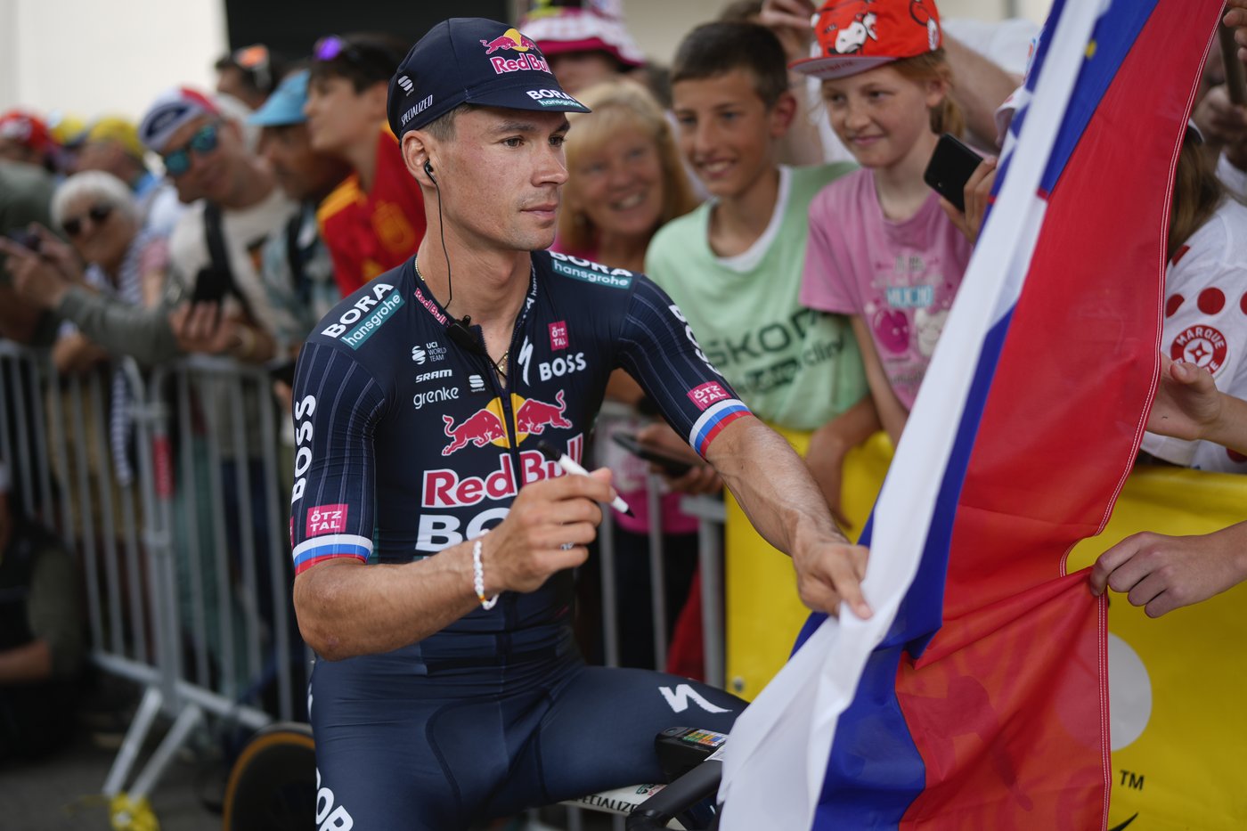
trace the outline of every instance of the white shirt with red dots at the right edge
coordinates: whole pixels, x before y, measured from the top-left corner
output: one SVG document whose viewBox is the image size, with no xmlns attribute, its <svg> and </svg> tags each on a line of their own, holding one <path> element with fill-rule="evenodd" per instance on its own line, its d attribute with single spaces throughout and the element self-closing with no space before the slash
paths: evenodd
<svg viewBox="0 0 1247 831">
<path fill-rule="evenodd" d="M 1217 389 L 1247 398 L 1245 349 L 1247 207 L 1227 198 L 1170 261 L 1161 352 L 1206 368 Z M 1247 473 L 1247 457 L 1211 442 L 1147 433 L 1142 449 L 1191 468 Z"/>
</svg>

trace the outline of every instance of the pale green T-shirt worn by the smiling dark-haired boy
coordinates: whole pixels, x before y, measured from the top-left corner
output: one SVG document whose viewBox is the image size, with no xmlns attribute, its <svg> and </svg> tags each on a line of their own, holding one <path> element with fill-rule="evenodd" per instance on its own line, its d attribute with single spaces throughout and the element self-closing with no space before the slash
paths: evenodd
<svg viewBox="0 0 1247 831">
<path fill-rule="evenodd" d="M 809 202 L 853 170 L 843 162 L 781 167 L 771 222 L 737 257 L 710 248 L 713 202 L 663 226 L 646 256 L 646 273 L 680 306 L 706 357 L 777 427 L 814 429 L 868 392 L 848 318 L 798 299 Z"/>
</svg>

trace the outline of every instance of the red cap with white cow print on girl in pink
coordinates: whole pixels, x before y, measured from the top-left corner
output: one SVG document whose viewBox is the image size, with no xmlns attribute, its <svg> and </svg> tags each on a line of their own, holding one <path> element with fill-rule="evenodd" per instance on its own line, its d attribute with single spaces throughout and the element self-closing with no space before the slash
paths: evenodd
<svg viewBox="0 0 1247 831">
<path fill-rule="evenodd" d="M 827 0 L 812 25 L 818 55 L 788 67 L 823 79 L 933 52 L 943 42 L 935 0 Z"/>
</svg>

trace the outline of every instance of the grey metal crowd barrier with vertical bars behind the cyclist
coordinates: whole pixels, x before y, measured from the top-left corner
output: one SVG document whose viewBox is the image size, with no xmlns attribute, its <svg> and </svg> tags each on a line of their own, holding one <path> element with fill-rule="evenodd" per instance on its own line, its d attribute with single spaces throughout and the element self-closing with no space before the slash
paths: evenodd
<svg viewBox="0 0 1247 831">
<path fill-rule="evenodd" d="M 205 735 L 208 716 L 248 730 L 307 717 L 311 654 L 289 599 L 293 440 L 283 440 L 268 373 L 228 359 L 187 358 L 147 373 L 123 359 L 67 376 L 46 351 L 0 339 L 0 458 L 10 463 L 12 489 L 81 566 L 90 660 L 142 689 L 102 790 L 113 827 L 148 827 L 146 797 L 175 754 Z M 607 406 L 600 424 L 622 417 Z M 591 449 L 597 458 L 605 434 Z M 658 483 L 648 478 L 647 500 L 653 655 L 662 669 Z M 722 686 L 723 507 L 688 498 L 683 508 L 701 520 L 706 678 Z M 617 665 L 626 599 L 614 584 L 609 517 L 600 540 L 605 663 Z M 136 774 L 160 716 L 168 727 Z M 569 824 L 581 826 L 575 811 Z"/>
</svg>

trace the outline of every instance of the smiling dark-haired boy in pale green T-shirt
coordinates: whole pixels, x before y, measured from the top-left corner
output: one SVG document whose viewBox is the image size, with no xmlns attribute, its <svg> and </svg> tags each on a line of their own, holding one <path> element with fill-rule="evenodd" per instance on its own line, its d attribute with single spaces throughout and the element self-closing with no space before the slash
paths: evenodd
<svg viewBox="0 0 1247 831">
<path fill-rule="evenodd" d="M 671 72 L 681 152 L 711 198 L 662 227 L 646 272 L 680 306 L 706 356 L 761 418 L 813 430 L 807 462 L 839 517 L 844 454 L 879 429 L 848 318 L 802 307 L 814 195 L 853 170 L 787 167 L 777 145 L 797 111 L 783 47 L 767 29 L 690 32 Z M 651 427 L 647 442 L 675 434 Z M 676 487 L 697 490 L 692 473 Z"/>
</svg>

